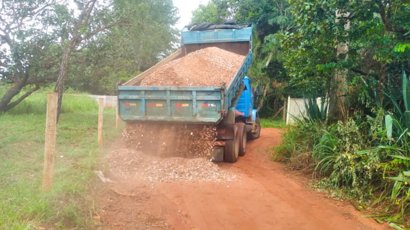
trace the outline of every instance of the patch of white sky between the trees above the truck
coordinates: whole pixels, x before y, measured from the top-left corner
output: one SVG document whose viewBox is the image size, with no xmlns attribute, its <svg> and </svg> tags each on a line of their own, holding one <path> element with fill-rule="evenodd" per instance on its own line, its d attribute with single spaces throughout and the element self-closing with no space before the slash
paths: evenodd
<svg viewBox="0 0 410 230">
<path fill-rule="evenodd" d="M 172 0 L 174 6 L 179 9 L 180 20 L 175 25 L 179 30 L 182 30 L 185 25 L 191 21 L 192 11 L 195 10 L 199 4 L 206 4 L 209 0 Z"/>
</svg>

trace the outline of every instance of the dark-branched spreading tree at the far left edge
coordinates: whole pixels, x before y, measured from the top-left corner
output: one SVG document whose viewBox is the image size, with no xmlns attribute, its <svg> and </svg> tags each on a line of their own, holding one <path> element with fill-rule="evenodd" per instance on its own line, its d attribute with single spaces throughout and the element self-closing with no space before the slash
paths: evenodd
<svg viewBox="0 0 410 230">
<path fill-rule="evenodd" d="M 1 97 L 0 114 L 55 81 L 59 27 L 47 19 L 54 19 L 53 9 L 60 6 L 55 0 L 1 1 L 0 80 L 11 86 Z M 26 86 L 32 87 L 14 99 Z"/>
</svg>

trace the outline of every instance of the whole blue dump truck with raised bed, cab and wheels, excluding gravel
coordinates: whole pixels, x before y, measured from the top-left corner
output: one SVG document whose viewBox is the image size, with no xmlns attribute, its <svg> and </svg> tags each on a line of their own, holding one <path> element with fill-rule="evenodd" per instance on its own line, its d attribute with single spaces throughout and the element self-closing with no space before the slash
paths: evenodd
<svg viewBox="0 0 410 230">
<path fill-rule="evenodd" d="M 252 24 L 238 27 L 204 31 L 184 28 L 181 49 L 118 86 L 118 109 L 123 121 L 217 125 L 213 159 L 233 163 L 238 156 L 245 155 L 246 141 L 258 138 L 261 126 L 253 108 L 256 95 L 251 80 L 245 76 L 252 62 Z M 230 82 L 204 87 L 140 85 L 144 77 L 165 63 L 206 47 L 218 47 L 246 56 Z M 243 115 L 238 116 L 235 111 Z"/>
</svg>

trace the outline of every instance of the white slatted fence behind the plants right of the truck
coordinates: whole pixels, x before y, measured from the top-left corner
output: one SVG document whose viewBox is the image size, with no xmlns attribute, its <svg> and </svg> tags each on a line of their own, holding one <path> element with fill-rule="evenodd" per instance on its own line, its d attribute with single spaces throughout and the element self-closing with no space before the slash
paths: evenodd
<svg viewBox="0 0 410 230">
<path fill-rule="evenodd" d="M 306 103 L 309 103 L 308 98 L 290 98 L 290 96 L 287 97 L 286 124 L 294 124 L 297 121 L 297 119 L 303 120 L 303 117 L 308 115 L 305 107 L 305 101 Z M 316 98 L 316 103 L 319 105 L 320 109 L 320 105 L 322 104 L 322 98 Z M 327 104 L 328 99 L 326 99 L 325 102 L 325 108 L 327 109 L 328 113 L 329 108 Z"/>
</svg>

